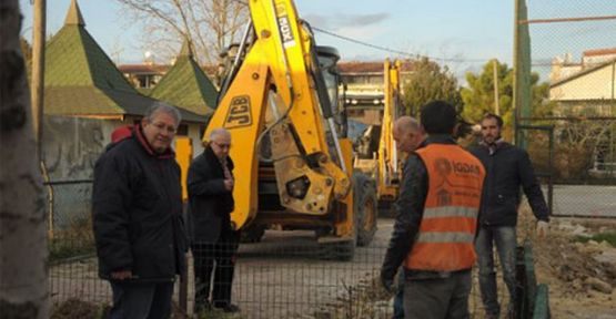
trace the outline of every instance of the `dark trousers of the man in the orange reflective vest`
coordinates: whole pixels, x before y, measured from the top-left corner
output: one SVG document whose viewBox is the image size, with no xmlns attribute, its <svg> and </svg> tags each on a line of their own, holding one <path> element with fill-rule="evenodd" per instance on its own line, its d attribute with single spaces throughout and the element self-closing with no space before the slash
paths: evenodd
<svg viewBox="0 0 616 319">
<path fill-rule="evenodd" d="M 447 278 L 406 279 L 404 318 L 468 318 L 471 270 L 451 272 Z"/>
</svg>

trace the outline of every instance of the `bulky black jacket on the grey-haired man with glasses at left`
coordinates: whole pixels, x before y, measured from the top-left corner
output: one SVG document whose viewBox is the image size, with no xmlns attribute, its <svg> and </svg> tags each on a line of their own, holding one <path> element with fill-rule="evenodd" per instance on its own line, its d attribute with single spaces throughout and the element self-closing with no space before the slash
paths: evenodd
<svg viewBox="0 0 616 319">
<path fill-rule="evenodd" d="M 184 267 L 180 167 L 141 135 L 108 146 L 94 166 L 92 212 L 99 275 L 131 270 L 135 280 L 173 280 Z"/>
</svg>

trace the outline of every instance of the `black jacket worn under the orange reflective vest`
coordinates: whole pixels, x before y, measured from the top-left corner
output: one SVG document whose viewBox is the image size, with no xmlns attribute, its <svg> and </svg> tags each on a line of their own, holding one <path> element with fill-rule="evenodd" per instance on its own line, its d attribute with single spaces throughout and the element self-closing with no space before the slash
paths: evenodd
<svg viewBox="0 0 616 319">
<path fill-rule="evenodd" d="M 418 148 L 428 144 L 456 144 L 448 135 L 434 135 L 427 137 Z M 415 237 L 420 231 L 420 224 L 424 215 L 425 199 L 428 189 L 427 168 L 416 153 L 411 153 L 404 164 L 400 194 L 394 204 L 395 224 L 390 239 L 390 246 L 381 267 L 381 279 L 384 281 L 393 280 L 397 268 L 413 247 Z M 408 276 L 432 278 L 437 274 L 413 274 Z M 434 275 L 434 276 L 433 276 Z M 407 277 L 408 277 L 407 276 Z"/>
</svg>

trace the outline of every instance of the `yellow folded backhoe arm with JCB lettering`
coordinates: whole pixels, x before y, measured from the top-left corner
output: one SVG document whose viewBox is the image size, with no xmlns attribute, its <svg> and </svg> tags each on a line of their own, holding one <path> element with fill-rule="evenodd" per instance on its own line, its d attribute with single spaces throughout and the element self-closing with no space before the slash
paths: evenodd
<svg viewBox="0 0 616 319">
<path fill-rule="evenodd" d="M 254 219 L 259 209 L 257 144 L 266 128 L 284 207 L 294 213 L 323 215 L 330 212 L 333 200 L 344 199 L 351 189 L 350 177 L 332 162 L 325 142 L 326 128 L 310 75 L 312 35 L 299 23 L 291 0 L 251 0 L 249 3 L 256 40 L 222 96 L 204 135 L 209 136 L 216 127 L 225 127 L 231 133 L 230 156 L 235 163 L 235 210 L 231 218 L 238 228 Z M 286 114 L 273 127 L 266 127 L 265 121 L 271 106 L 270 94 L 280 101 L 274 107 L 280 114 Z M 295 145 L 290 128 L 301 147 Z M 309 156 L 319 158 L 319 167 L 307 165 L 305 158 Z M 287 182 L 302 175 L 310 179 L 307 195 L 302 199 L 286 196 Z"/>
</svg>

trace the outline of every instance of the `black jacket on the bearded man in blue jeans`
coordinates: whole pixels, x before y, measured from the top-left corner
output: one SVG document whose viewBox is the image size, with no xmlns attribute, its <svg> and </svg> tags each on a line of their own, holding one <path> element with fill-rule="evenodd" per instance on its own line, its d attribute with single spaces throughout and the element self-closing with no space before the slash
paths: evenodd
<svg viewBox="0 0 616 319">
<path fill-rule="evenodd" d="M 542 188 L 526 151 L 498 142 L 493 154 L 486 145 L 471 148 L 485 166 L 486 177 L 479 208 L 481 226 L 516 226 L 521 202 L 519 186 L 539 220 L 548 220 Z"/>
</svg>

